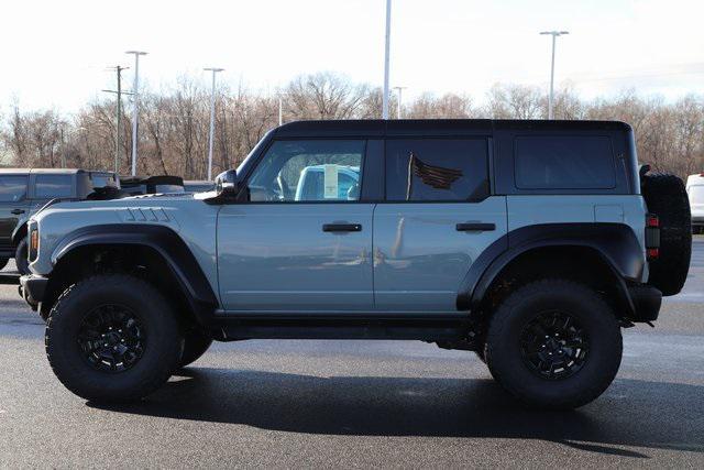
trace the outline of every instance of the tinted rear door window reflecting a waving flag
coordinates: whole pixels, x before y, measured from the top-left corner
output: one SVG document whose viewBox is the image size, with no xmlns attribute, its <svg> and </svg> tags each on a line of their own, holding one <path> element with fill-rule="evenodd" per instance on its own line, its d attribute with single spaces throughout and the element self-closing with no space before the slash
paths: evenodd
<svg viewBox="0 0 704 470">
<path fill-rule="evenodd" d="M 471 201 L 488 197 L 486 139 L 386 141 L 386 200 Z"/>
</svg>

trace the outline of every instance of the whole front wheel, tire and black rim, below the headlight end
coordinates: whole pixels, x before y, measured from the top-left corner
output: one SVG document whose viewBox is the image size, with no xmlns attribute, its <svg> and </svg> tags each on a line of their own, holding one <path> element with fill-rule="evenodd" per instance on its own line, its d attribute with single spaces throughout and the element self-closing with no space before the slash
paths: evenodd
<svg viewBox="0 0 704 470">
<path fill-rule="evenodd" d="M 45 334 L 58 380 L 95 402 L 139 400 L 178 365 L 180 335 L 164 296 L 123 274 L 80 281 L 56 302 Z"/>
</svg>

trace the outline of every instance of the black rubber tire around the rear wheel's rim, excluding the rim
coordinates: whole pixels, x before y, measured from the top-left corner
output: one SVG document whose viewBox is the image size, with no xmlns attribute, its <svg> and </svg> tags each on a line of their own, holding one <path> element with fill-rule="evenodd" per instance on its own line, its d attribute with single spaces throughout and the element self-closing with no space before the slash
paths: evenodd
<svg viewBox="0 0 704 470">
<path fill-rule="evenodd" d="M 560 379 L 540 376 L 521 352 L 524 328 L 546 311 L 574 318 L 588 338 L 581 369 Z M 509 295 L 494 314 L 486 338 L 486 364 L 494 379 L 520 402 L 569 409 L 600 396 L 620 365 L 620 327 L 609 306 L 591 288 L 560 280 L 536 281 Z"/>
</svg>

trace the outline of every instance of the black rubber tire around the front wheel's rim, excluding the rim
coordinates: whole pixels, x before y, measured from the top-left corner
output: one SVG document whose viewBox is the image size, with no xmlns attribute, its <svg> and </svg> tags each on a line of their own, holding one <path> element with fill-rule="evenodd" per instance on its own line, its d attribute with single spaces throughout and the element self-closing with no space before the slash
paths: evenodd
<svg viewBox="0 0 704 470">
<path fill-rule="evenodd" d="M 78 343 L 84 319 L 96 307 L 129 308 L 145 331 L 143 354 L 120 372 L 97 370 Z M 173 308 L 160 291 L 125 274 L 101 274 L 67 288 L 48 317 L 46 356 L 58 380 L 76 395 L 97 403 L 130 402 L 162 386 L 178 365 L 182 338 Z"/>
</svg>

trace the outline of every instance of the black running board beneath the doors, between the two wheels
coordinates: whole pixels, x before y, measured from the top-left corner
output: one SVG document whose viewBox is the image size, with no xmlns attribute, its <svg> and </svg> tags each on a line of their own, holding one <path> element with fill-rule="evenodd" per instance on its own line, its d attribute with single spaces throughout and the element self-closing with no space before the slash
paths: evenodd
<svg viewBox="0 0 704 470">
<path fill-rule="evenodd" d="M 220 313 L 212 332 L 221 341 L 243 339 L 415 339 L 451 341 L 466 338 L 464 311 L 451 314 L 284 314 Z"/>
</svg>

